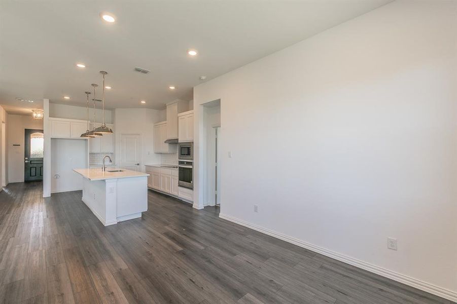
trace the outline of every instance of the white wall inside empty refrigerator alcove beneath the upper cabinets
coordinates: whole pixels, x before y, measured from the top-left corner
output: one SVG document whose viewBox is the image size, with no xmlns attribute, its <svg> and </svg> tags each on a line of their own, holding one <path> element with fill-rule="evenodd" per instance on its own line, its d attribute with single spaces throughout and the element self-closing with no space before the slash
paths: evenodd
<svg viewBox="0 0 457 304">
<path fill-rule="evenodd" d="M 87 168 L 87 140 L 51 138 L 51 193 L 83 188 L 75 168 Z"/>
</svg>

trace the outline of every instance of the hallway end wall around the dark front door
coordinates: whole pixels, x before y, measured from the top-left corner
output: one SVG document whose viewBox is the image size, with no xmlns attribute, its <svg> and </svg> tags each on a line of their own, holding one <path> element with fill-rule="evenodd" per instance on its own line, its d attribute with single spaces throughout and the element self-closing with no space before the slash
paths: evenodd
<svg viewBox="0 0 457 304">
<path fill-rule="evenodd" d="M 25 129 L 43 130 L 43 120 L 31 116 L 8 115 L 8 181 L 24 181 Z M 19 144 L 19 146 L 13 146 Z"/>
</svg>

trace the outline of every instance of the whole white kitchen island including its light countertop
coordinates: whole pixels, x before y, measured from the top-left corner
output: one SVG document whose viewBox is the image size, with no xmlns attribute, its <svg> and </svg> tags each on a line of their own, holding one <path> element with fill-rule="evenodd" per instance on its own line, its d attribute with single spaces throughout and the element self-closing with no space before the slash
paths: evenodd
<svg viewBox="0 0 457 304">
<path fill-rule="evenodd" d="M 112 167 L 73 171 L 83 178 L 82 201 L 103 225 L 141 217 L 148 210 L 149 174 Z"/>
</svg>

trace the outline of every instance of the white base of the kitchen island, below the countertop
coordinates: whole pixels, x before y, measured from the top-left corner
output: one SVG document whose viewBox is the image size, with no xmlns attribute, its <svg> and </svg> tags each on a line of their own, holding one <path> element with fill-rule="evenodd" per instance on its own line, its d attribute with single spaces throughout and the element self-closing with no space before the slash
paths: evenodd
<svg viewBox="0 0 457 304">
<path fill-rule="evenodd" d="M 82 201 L 105 226 L 141 217 L 148 210 L 147 176 L 83 180 Z"/>
</svg>

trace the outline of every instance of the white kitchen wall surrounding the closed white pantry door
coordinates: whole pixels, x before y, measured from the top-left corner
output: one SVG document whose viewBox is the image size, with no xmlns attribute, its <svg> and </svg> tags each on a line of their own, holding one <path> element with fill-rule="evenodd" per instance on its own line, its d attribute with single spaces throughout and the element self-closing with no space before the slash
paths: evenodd
<svg viewBox="0 0 457 304">
<path fill-rule="evenodd" d="M 115 110 L 116 125 L 116 163 L 121 165 L 121 135 L 141 134 L 141 170 L 145 172 L 147 164 L 159 164 L 160 155 L 154 153 L 154 123 L 163 121 L 162 111 L 154 109 L 126 109 Z"/>
</svg>

